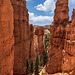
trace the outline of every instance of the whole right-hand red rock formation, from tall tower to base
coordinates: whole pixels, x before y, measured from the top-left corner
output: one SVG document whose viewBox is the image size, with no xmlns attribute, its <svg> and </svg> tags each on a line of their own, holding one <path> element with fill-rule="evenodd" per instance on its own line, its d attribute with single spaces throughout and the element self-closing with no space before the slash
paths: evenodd
<svg viewBox="0 0 75 75">
<path fill-rule="evenodd" d="M 72 16 L 68 21 L 68 10 L 68 0 L 57 0 L 50 26 L 48 73 L 70 72 L 75 66 L 75 20 Z"/>
</svg>

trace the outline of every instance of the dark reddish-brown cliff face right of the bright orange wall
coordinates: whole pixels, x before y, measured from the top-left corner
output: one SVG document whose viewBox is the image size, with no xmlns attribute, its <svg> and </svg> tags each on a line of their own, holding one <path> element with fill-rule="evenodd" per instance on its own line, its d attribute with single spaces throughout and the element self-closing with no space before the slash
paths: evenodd
<svg viewBox="0 0 75 75">
<path fill-rule="evenodd" d="M 14 9 L 14 75 L 25 74 L 25 60 L 30 52 L 29 14 L 25 0 L 11 0 Z"/>
</svg>

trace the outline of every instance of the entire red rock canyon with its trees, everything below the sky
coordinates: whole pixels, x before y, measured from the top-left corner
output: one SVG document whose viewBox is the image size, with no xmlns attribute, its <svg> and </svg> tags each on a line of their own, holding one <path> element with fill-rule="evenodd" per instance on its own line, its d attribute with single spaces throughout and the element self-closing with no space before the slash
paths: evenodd
<svg viewBox="0 0 75 75">
<path fill-rule="evenodd" d="M 75 9 L 69 20 L 69 1 L 57 0 L 51 25 L 40 26 L 26 3 L 0 0 L 0 75 L 75 75 Z"/>
</svg>

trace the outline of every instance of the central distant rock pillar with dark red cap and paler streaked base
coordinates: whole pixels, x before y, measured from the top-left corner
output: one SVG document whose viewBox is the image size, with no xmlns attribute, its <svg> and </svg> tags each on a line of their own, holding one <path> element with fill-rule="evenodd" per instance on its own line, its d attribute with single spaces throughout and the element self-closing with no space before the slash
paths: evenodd
<svg viewBox="0 0 75 75">
<path fill-rule="evenodd" d="M 44 30 L 43 27 L 38 27 L 35 30 L 36 40 L 35 40 L 35 52 L 36 54 L 41 54 L 44 50 Z"/>
</svg>

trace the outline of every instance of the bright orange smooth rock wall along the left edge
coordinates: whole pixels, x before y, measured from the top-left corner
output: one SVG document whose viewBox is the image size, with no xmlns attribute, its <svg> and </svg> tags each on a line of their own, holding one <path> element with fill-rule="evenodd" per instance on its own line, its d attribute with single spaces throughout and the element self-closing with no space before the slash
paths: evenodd
<svg viewBox="0 0 75 75">
<path fill-rule="evenodd" d="M 10 0 L 0 0 L 0 75 L 13 75 L 13 8 Z"/>
</svg>

